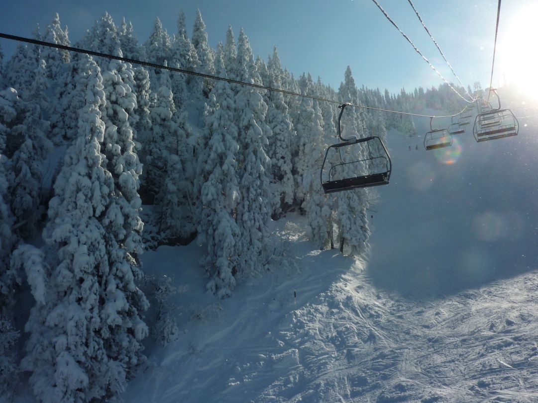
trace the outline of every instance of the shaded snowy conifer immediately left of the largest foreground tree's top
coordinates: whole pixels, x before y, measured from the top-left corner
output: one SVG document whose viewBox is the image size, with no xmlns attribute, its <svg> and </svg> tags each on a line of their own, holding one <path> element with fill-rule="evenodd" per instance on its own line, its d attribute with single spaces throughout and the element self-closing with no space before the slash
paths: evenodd
<svg viewBox="0 0 538 403">
<path fill-rule="evenodd" d="M 43 119 L 41 112 L 41 105 L 47 106 L 47 73 L 44 60 L 40 61 L 33 77 L 34 82 L 28 89 L 28 97 L 31 100 L 20 103 L 22 124 L 11 129 L 20 143 L 11 159 L 15 176 L 9 186 L 11 210 L 17 221 L 17 233 L 22 238 L 36 233 L 40 207 L 44 208 L 40 206 L 43 162 L 52 151 L 52 143 L 47 138 L 50 125 Z"/>
</svg>

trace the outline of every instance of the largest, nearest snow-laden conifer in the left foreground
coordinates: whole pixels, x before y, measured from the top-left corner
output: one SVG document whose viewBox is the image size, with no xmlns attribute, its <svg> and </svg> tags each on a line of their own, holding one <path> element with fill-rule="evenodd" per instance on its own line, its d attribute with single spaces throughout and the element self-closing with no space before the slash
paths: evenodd
<svg viewBox="0 0 538 403">
<path fill-rule="evenodd" d="M 37 305 L 26 325 L 30 338 L 22 362 L 43 402 L 115 397 L 139 363 L 140 341 L 147 335 L 139 315 L 147 301 L 134 284 L 138 270 L 126 251 L 132 242 L 116 236 L 129 220 L 117 206 L 123 196 L 102 154 L 107 128 L 101 119 L 106 101 L 100 69 L 86 55 L 79 64 L 77 87 L 86 87 L 86 104 L 49 204 L 47 286 L 32 288 Z"/>
</svg>

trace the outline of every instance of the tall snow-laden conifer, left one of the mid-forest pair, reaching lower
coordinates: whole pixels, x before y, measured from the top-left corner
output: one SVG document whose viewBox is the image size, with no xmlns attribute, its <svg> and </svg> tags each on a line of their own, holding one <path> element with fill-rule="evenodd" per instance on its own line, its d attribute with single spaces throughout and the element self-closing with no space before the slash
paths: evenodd
<svg viewBox="0 0 538 403">
<path fill-rule="evenodd" d="M 226 77 L 224 49 L 217 48 L 217 74 Z M 218 81 L 209 93 L 206 110 L 208 146 L 199 161 L 201 203 L 197 221 L 201 239 L 206 241 L 207 256 L 202 262 L 210 277 L 207 289 L 218 297 L 229 296 L 236 284 L 240 231 L 235 216 L 239 203 L 239 146 L 234 122 L 235 99 L 230 84 Z"/>
</svg>

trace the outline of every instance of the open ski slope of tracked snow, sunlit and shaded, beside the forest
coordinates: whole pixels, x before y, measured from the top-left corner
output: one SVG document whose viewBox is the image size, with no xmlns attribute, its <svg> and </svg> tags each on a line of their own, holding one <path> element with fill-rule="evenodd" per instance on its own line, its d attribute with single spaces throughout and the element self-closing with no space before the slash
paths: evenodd
<svg viewBox="0 0 538 403">
<path fill-rule="evenodd" d="M 298 214 L 274 223 L 272 270 L 228 299 L 206 294 L 196 242 L 145 253 L 178 287 L 180 336 L 146 350 L 125 401 L 538 401 L 538 139 L 468 128 L 432 153 L 427 124 L 388 135 L 367 262 L 316 250 Z"/>
</svg>

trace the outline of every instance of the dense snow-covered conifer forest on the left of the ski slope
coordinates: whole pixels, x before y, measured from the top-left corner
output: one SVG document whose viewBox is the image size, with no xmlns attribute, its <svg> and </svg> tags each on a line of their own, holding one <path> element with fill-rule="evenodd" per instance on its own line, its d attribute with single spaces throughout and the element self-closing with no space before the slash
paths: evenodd
<svg viewBox="0 0 538 403">
<path fill-rule="evenodd" d="M 341 103 L 450 113 L 465 106 L 446 84 L 391 94 L 359 87 L 349 67 L 338 89 L 308 72 L 294 76 L 277 47 L 256 49 L 267 57 L 254 54 L 242 29 L 229 27 L 212 48 L 200 12 L 194 21 L 180 12 L 173 32 L 157 19 L 148 38 L 105 12 L 74 44 L 59 16 L 52 17 L 34 38 Z M 152 351 L 186 346 L 180 322 L 189 314 L 218 320 L 223 299 L 238 290 L 260 292 L 251 279 L 297 269 L 287 250 L 291 235 L 282 229 L 289 215 L 305 232 L 301 242 L 332 249 L 337 259 L 364 261 L 379 193 L 324 195 L 319 179 L 325 149 L 338 142 L 337 103 L 36 45 L 19 44 L 3 59 L 0 52 L 0 395 L 6 401 L 121 398 L 131 379 L 155 368 Z M 344 133 L 384 141 L 387 131 L 402 139 L 415 134 L 409 116 L 357 108 L 346 109 L 342 124 Z M 186 254 L 171 255 L 173 248 L 194 247 L 193 265 Z M 178 274 L 201 274 L 206 310 L 193 312 L 189 307 L 199 301 L 186 298 L 174 273 L 150 263 L 164 259 Z M 323 264 L 330 270 L 330 262 Z M 179 305 L 178 292 L 185 296 Z M 279 301 L 273 302 L 267 308 L 277 310 Z M 372 315 L 377 309 L 374 303 Z M 301 320 L 300 332 L 309 337 Z M 353 337 L 372 343 L 384 337 L 361 332 Z M 182 351 L 197 354 L 197 348 Z M 285 354 L 273 356 L 275 368 L 304 359 L 296 350 Z M 369 383 L 353 382 L 351 390 Z M 273 389 L 247 400 L 296 395 L 288 390 L 277 398 Z M 203 401 L 190 397 L 163 399 Z M 213 401 L 235 397 L 216 394 Z M 164 401 L 154 399 L 140 401 Z"/>
</svg>

